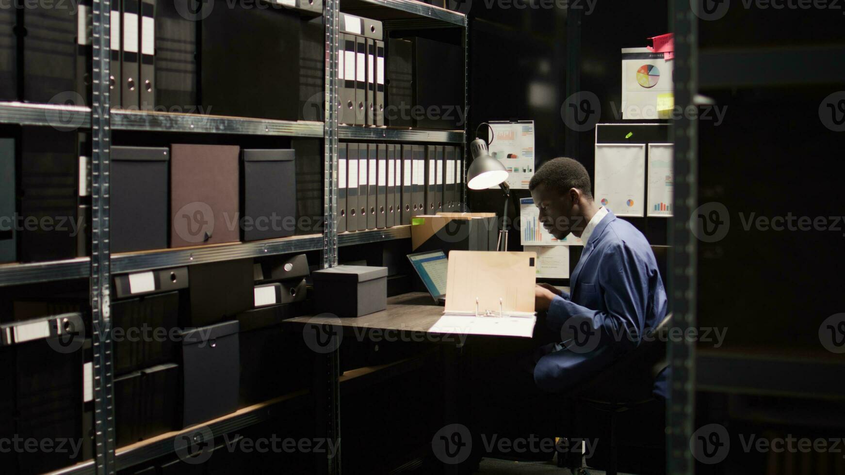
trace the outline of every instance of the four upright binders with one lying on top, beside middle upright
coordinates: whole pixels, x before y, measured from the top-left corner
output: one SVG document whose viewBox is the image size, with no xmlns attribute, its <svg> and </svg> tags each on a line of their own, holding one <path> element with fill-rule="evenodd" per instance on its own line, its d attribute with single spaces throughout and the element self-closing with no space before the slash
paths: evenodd
<svg viewBox="0 0 845 475">
<path fill-rule="evenodd" d="M 337 48 L 339 120 L 384 126 L 384 35 L 380 21 L 341 13 Z"/>
</svg>

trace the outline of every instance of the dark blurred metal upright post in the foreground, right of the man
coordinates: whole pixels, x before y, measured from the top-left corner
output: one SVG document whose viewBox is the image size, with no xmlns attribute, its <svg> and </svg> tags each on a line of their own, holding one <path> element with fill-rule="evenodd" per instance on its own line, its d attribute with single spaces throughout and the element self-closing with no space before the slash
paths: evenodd
<svg viewBox="0 0 845 475">
<path fill-rule="evenodd" d="M 692 8 L 697 8 L 693 3 Z M 698 18 L 688 0 L 669 4 L 670 31 L 675 32 L 674 94 L 675 104 L 683 111 L 693 105 L 698 91 Z M 690 228 L 698 195 L 696 170 L 698 154 L 698 121 L 680 118 L 672 121 L 674 143 L 675 188 L 673 219 L 669 229 L 669 301 L 674 313 L 673 326 L 682 332 L 695 327 L 696 240 Z M 695 472 L 690 452 L 690 437 L 695 419 L 695 342 L 681 338 L 670 342 L 667 454 L 668 473 Z"/>
</svg>

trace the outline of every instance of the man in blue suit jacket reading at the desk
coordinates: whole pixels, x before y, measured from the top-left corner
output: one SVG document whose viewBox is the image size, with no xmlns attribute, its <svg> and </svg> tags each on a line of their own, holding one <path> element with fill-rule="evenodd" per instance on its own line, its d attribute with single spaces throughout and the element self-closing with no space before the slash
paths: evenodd
<svg viewBox="0 0 845 475">
<path fill-rule="evenodd" d="M 571 233 L 584 242 L 571 294 L 548 284 L 537 285 L 535 293 L 536 310 L 547 312 L 546 324 L 560 341 L 541 348 L 534 381 L 546 391 L 566 391 L 636 348 L 666 315 L 666 291 L 646 237 L 593 202 L 590 176 L 580 163 L 549 160 L 529 189 L 549 233 L 558 239 Z M 656 392 L 664 391 L 665 381 L 657 381 Z"/>
</svg>

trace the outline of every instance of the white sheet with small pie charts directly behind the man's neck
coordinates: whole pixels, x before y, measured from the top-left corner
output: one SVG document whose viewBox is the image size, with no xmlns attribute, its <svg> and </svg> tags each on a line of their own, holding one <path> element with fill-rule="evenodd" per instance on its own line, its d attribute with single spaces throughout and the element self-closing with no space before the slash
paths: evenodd
<svg viewBox="0 0 845 475">
<path fill-rule="evenodd" d="M 596 202 L 617 216 L 646 208 L 646 144 L 596 144 Z"/>
</svg>

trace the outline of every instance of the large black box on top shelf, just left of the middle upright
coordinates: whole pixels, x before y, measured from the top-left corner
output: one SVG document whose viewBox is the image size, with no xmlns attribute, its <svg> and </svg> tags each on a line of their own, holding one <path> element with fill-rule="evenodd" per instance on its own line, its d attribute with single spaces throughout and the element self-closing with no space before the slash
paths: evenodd
<svg viewBox="0 0 845 475">
<path fill-rule="evenodd" d="M 226 0 L 212 2 L 201 22 L 202 103 L 218 115 L 296 121 L 299 13 L 266 3 L 227 8 Z"/>
</svg>

